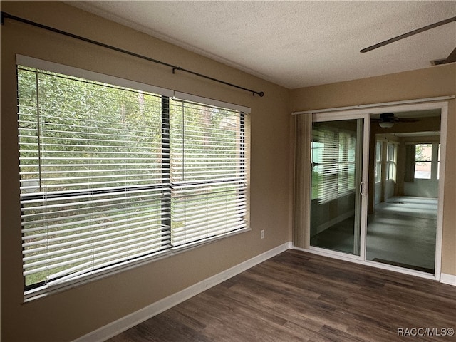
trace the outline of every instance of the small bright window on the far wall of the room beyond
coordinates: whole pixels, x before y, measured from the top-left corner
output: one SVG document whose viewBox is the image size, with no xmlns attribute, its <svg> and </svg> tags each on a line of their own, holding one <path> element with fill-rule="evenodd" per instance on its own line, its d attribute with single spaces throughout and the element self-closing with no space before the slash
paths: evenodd
<svg viewBox="0 0 456 342">
<path fill-rule="evenodd" d="M 440 144 L 415 145 L 415 178 L 423 180 L 438 179 L 439 174 Z"/>
</svg>

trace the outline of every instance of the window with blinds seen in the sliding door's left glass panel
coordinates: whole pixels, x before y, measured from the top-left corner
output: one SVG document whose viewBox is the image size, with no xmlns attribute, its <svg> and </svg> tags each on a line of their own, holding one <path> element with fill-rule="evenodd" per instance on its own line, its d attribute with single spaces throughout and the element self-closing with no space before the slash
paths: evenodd
<svg viewBox="0 0 456 342">
<path fill-rule="evenodd" d="M 311 197 L 322 204 L 355 189 L 356 133 L 318 124 L 312 142 Z"/>
</svg>

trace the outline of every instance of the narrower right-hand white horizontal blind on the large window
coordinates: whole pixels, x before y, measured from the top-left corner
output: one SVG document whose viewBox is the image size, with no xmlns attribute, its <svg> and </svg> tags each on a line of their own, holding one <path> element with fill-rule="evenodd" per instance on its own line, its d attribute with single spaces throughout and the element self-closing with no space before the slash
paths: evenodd
<svg viewBox="0 0 456 342">
<path fill-rule="evenodd" d="M 247 227 L 246 120 L 237 110 L 172 100 L 173 247 Z"/>
</svg>

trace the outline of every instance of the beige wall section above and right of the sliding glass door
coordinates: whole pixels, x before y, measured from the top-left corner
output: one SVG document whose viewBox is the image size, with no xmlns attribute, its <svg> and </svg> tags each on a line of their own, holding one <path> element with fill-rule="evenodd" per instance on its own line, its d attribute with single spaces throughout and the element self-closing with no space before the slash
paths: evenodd
<svg viewBox="0 0 456 342">
<path fill-rule="evenodd" d="M 456 94 L 456 63 L 291 90 L 291 110 L 316 110 Z M 456 100 L 449 101 L 442 273 L 456 275 Z"/>
</svg>

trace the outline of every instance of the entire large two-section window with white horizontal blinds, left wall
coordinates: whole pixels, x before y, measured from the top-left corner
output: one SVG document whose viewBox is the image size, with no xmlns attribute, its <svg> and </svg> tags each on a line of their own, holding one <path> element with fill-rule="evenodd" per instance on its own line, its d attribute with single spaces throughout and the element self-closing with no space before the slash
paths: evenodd
<svg viewBox="0 0 456 342">
<path fill-rule="evenodd" d="M 247 114 L 17 74 L 26 296 L 247 228 Z"/>
</svg>

